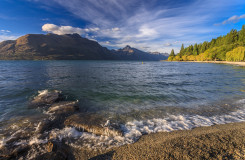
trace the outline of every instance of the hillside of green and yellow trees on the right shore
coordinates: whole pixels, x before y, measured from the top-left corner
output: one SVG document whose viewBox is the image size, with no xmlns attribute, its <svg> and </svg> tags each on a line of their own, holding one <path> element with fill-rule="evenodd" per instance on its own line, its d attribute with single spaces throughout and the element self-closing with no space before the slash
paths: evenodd
<svg viewBox="0 0 245 160">
<path fill-rule="evenodd" d="M 232 29 L 227 35 L 212 39 L 210 42 L 184 47 L 169 61 L 245 61 L 245 25 L 240 31 Z"/>
</svg>

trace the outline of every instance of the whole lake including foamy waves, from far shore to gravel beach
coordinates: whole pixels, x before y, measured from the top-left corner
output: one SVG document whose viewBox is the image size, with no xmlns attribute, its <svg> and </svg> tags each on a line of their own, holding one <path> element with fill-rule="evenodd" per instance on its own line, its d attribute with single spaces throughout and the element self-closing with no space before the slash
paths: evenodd
<svg viewBox="0 0 245 160">
<path fill-rule="evenodd" d="M 58 139 L 79 147 L 133 143 L 142 134 L 245 120 L 245 68 L 224 64 L 137 61 L 0 61 L 0 147 L 25 125 L 37 127 L 45 110 L 28 103 L 41 90 L 79 100 L 80 112 L 118 117 L 123 137 L 108 138 L 71 127 Z M 34 119 L 34 120 L 33 120 Z M 18 122 L 18 123 L 17 123 Z M 33 138 L 35 137 L 35 138 Z M 17 139 L 15 145 L 45 143 Z"/>
</svg>

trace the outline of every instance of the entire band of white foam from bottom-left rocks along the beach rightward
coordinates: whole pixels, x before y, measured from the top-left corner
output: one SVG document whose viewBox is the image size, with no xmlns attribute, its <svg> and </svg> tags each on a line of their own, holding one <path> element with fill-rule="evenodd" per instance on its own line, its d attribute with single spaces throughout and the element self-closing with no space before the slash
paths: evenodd
<svg viewBox="0 0 245 160">
<path fill-rule="evenodd" d="M 245 101 L 237 101 L 239 104 L 244 104 Z M 66 139 L 66 143 L 72 147 L 88 147 L 91 149 L 111 148 L 130 144 L 137 141 L 142 135 L 157 133 L 157 132 L 171 132 L 176 130 L 189 130 L 195 127 L 212 126 L 215 124 L 226 124 L 232 122 L 245 121 L 245 106 L 241 109 L 225 115 L 202 116 L 202 115 L 168 115 L 166 118 L 153 118 L 141 121 L 130 121 L 121 125 L 124 132 L 123 136 L 98 136 L 88 132 L 81 132 L 73 127 L 65 127 L 63 129 L 53 129 L 47 135 L 49 140 L 61 141 Z M 36 130 L 40 123 L 37 124 Z M 16 145 L 21 144 L 40 144 L 47 143 L 48 139 L 39 139 L 40 136 L 34 136 L 26 141 L 19 141 Z M 73 139 L 73 140 L 70 140 Z M 5 145 L 9 139 L 0 140 L 0 148 Z"/>
</svg>

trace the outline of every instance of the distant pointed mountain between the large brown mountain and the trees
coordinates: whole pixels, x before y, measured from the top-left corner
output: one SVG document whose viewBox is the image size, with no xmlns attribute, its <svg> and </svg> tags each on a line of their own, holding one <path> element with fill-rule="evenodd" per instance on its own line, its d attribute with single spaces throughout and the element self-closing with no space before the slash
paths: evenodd
<svg viewBox="0 0 245 160">
<path fill-rule="evenodd" d="M 112 53 L 115 56 L 115 59 L 120 60 L 165 60 L 168 56 L 163 54 L 151 54 L 148 52 L 144 52 L 138 50 L 136 48 L 132 48 L 129 45 L 122 49 L 113 50 Z"/>
</svg>

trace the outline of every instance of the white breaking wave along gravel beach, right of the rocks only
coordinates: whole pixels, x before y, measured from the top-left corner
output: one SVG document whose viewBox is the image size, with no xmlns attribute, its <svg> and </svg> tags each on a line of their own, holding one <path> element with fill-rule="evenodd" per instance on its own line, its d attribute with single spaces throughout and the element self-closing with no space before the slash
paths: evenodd
<svg viewBox="0 0 245 160">
<path fill-rule="evenodd" d="M 142 134 L 188 130 L 195 127 L 243 121 L 245 121 L 244 109 L 237 110 L 229 115 L 217 115 L 211 117 L 201 115 L 169 115 L 168 118 L 164 119 L 127 122 L 125 124 L 124 132 L 126 133 L 126 137 L 139 137 Z"/>
</svg>

